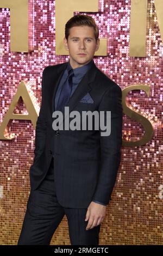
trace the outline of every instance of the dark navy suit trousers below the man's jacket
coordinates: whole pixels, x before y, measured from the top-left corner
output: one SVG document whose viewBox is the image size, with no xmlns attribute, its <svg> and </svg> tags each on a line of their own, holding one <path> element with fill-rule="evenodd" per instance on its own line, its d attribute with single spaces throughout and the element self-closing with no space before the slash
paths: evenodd
<svg viewBox="0 0 163 256">
<path fill-rule="evenodd" d="M 17 245 L 49 245 L 64 215 L 68 221 L 71 245 L 98 245 L 101 224 L 86 230 L 87 209 L 64 208 L 57 200 L 54 165 L 36 190 L 30 190 L 26 214 Z"/>
</svg>

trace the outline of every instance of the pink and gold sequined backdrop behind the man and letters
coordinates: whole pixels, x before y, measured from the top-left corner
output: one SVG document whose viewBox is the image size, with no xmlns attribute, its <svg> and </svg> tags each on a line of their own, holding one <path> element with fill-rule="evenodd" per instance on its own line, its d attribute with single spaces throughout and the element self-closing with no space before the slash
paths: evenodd
<svg viewBox="0 0 163 256">
<path fill-rule="evenodd" d="M 95 57 L 95 63 L 121 88 L 131 84 L 151 84 L 147 97 L 143 91 L 128 94 L 127 100 L 153 122 L 154 135 L 146 145 L 122 147 L 122 160 L 112 201 L 106 210 L 100 233 L 100 245 L 161 245 L 162 180 L 161 133 L 162 55 L 154 1 L 148 1 L 147 48 L 145 58 L 129 57 L 130 1 L 99 1 L 101 11 L 87 13 L 99 26 L 101 37 L 108 38 L 108 56 Z M 77 14 L 77 13 L 74 13 Z M 82 14 L 82 13 L 81 13 Z M 41 101 L 41 79 L 45 66 L 66 62 L 67 56 L 55 56 L 55 1 L 34 1 L 34 51 L 10 52 L 10 11 L 0 9 L 0 122 L 7 113 L 18 84 L 24 80 Z M 26 113 L 19 102 L 15 113 Z M 29 196 L 29 168 L 34 157 L 35 130 L 30 121 L 13 120 L 12 141 L 0 141 L 0 243 L 16 245 Z M 123 139 L 140 139 L 143 127 L 123 116 Z M 66 217 L 55 231 L 51 245 L 70 245 Z"/>
</svg>

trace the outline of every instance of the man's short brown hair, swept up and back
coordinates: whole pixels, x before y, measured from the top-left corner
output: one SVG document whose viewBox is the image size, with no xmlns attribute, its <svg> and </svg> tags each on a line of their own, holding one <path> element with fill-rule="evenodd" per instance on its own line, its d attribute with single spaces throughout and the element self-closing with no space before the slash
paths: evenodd
<svg viewBox="0 0 163 256">
<path fill-rule="evenodd" d="M 68 36 L 70 35 L 70 28 L 76 27 L 76 26 L 89 26 L 93 27 L 95 32 L 95 39 L 97 41 L 99 37 L 99 31 L 98 27 L 95 23 L 95 20 L 93 20 L 92 17 L 88 15 L 78 14 L 74 15 L 70 20 L 67 21 L 65 25 L 65 38 L 68 40 Z"/>
</svg>

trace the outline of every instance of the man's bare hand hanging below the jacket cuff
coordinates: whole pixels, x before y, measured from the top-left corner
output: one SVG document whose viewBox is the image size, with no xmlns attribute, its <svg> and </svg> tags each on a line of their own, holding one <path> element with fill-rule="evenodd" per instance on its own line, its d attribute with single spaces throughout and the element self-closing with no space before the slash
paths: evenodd
<svg viewBox="0 0 163 256">
<path fill-rule="evenodd" d="M 91 229 L 99 225 L 105 216 L 106 206 L 91 202 L 87 208 L 85 221 L 89 220 L 86 226 L 86 230 Z"/>
</svg>

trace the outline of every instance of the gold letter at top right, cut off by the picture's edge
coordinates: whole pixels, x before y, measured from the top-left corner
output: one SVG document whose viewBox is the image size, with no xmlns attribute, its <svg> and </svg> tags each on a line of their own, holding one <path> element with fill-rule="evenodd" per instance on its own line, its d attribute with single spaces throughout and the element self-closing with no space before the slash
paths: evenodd
<svg viewBox="0 0 163 256">
<path fill-rule="evenodd" d="M 131 0 L 130 57 L 146 57 L 147 3 L 148 0 Z M 154 4 L 163 38 L 163 1 L 155 0 Z"/>
</svg>

